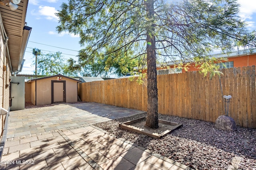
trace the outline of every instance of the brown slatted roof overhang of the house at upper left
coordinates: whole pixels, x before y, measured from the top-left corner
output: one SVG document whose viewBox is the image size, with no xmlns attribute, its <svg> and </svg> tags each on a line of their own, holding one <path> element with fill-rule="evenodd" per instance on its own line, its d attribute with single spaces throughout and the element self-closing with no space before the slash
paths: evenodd
<svg viewBox="0 0 256 170">
<path fill-rule="evenodd" d="M 20 72 L 24 63 L 24 53 L 28 43 L 31 27 L 26 26 L 28 0 L 21 0 L 18 9 L 12 11 L 8 5 L 0 6 L 0 24 L 3 38 L 8 39 L 7 54 L 12 72 Z"/>
</svg>

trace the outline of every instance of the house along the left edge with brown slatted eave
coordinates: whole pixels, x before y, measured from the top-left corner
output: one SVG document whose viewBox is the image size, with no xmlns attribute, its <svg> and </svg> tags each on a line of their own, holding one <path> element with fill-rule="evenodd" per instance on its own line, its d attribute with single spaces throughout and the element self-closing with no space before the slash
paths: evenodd
<svg viewBox="0 0 256 170">
<path fill-rule="evenodd" d="M 26 26 L 28 0 L 22 0 L 18 9 L 12 10 L 9 0 L 0 2 L 0 107 L 8 110 L 10 106 L 11 74 L 22 70 L 24 53 L 31 27 Z M 5 5 L 7 3 L 7 5 Z M 5 115 L 1 115 L 0 127 L 3 133 Z"/>
</svg>

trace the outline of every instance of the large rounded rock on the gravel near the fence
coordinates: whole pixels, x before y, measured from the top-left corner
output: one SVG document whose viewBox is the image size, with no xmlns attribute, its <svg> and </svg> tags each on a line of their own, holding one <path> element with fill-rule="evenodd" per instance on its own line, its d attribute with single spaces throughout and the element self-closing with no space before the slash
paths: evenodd
<svg viewBox="0 0 256 170">
<path fill-rule="evenodd" d="M 229 116 L 221 115 L 215 121 L 215 127 L 224 131 L 236 131 L 236 122 Z"/>
</svg>

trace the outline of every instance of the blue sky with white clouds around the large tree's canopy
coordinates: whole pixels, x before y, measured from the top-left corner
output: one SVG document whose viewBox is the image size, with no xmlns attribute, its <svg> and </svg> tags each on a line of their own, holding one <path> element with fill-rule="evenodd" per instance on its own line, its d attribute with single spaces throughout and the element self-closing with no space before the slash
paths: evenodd
<svg viewBox="0 0 256 170">
<path fill-rule="evenodd" d="M 34 48 L 41 53 L 61 52 L 63 61 L 70 57 L 77 59 L 78 51 L 83 47 L 79 44 L 79 37 L 74 34 L 58 34 L 56 26 L 59 25 L 55 13 L 60 10 L 62 2 L 68 0 L 29 0 L 26 14 L 27 26 L 32 27 L 28 44 L 24 54 L 24 65 L 19 74 L 33 74 L 35 68 L 32 61 Z M 256 30 L 256 0 L 238 0 L 240 4 L 239 16 L 247 22 L 249 31 Z M 111 77 L 111 76 L 110 76 Z"/>
</svg>

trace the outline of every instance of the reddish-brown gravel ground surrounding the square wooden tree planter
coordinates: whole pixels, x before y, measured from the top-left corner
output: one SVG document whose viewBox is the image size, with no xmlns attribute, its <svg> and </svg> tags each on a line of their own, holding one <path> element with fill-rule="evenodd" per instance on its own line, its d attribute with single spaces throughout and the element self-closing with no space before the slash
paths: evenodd
<svg viewBox="0 0 256 170">
<path fill-rule="evenodd" d="M 168 115 L 158 115 L 158 117 L 182 123 L 183 127 L 162 139 L 153 139 L 118 127 L 120 122 L 145 115 L 97 123 L 95 126 L 193 169 L 228 169 L 232 159 L 239 156 L 241 157 L 239 169 L 256 170 L 256 129 L 237 126 L 238 130 L 235 132 L 222 131 L 216 129 L 214 123 Z"/>
</svg>

